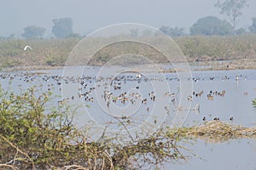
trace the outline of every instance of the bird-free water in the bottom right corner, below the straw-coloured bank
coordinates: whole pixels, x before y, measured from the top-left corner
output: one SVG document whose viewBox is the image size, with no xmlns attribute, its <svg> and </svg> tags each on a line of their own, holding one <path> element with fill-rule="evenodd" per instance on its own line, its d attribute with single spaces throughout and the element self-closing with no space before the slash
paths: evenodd
<svg viewBox="0 0 256 170">
<path fill-rule="evenodd" d="M 166 163 L 164 169 L 254 170 L 256 168 L 255 139 L 234 139 L 224 143 L 207 143 L 198 139 L 195 143 L 186 146 L 197 156 L 182 163 Z"/>
</svg>

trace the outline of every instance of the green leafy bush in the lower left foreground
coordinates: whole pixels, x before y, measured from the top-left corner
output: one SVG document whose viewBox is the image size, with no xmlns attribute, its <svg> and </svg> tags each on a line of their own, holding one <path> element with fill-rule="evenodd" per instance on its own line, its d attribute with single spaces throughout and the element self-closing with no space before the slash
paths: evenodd
<svg viewBox="0 0 256 170">
<path fill-rule="evenodd" d="M 56 108 L 50 105 L 50 99 L 50 92 L 44 93 L 38 88 L 29 88 L 19 95 L 0 89 L 1 162 L 9 161 L 15 156 L 15 151 L 19 152 L 15 159 L 24 160 L 24 163 L 29 159 L 30 165 L 26 166 L 32 167 L 34 163 L 40 167 L 49 161 L 57 163 L 55 159 L 64 158 L 66 153 L 61 153 L 64 151 L 62 146 L 76 130 L 71 117 L 67 116 L 68 108 L 61 105 Z"/>
</svg>

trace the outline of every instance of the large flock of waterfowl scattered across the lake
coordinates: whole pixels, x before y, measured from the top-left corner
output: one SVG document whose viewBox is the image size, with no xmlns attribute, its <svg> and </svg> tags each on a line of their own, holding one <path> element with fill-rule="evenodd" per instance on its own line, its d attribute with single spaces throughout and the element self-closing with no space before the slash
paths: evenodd
<svg viewBox="0 0 256 170">
<path fill-rule="evenodd" d="M 246 77 L 235 77 L 233 78 L 236 81 L 239 81 L 240 78 L 243 78 L 246 80 Z M 67 103 L 70 100 L 74 100 L 76 98 L 84 99 L 84 102 L 93 102 L 95 100 L 95 91 L 100 88 L 101 86 L 104 87 L 104 91 L 102 92 L 102 99 L 106 102 L 106 105 L 109 107 L 111 103 L 120 103 L 120 104 L 127 104 L 131 103 L 131 105 L 135 105 L 136 103 L 140 103 L 142 105 L 147 105 L 148 101 L 154 102 L 155 99 L 157 99 L 157 96 L 155 95 L 154 91 L 149 91 L 148 94 L 143 95 L 138 92 L 128 92 L 125 90 L 123 91 L 122 87 L 126 82 L 131 82 L 136 84 L 134 88 L 140 89 L 143 88 L 143 86 L 140 86 L 140 82 L 148 82 L 148 81 L 156 81 L 157 77 L 143 77 L 141 74 L 136 73 L 125 73 L 125 75 L 120 75 L 118 77 L 61 77 L 57 75 L 48 75 L 48 74 L 37 74 L 37 73 L 20 73 L 20 74 L 0 74 L 0 79 L 7 80 L 7 81 L 18 81 L 18 86 L 22 86 L 22 83 L 32 83 L 35 82 L 37 84 L 38 82 L 41 82 L 42 84 L 47 84 L 47 90 L 51 91 L 53 89 L 59 89 L 61 90 L 62 83 L 79 83 L 80 87 L 78 89 L 79 93 L 77 95 L 70 96 L 66 99 L 61 99 L 58 101 L 58 104 L 61 103 Z M 229 80 L 230 77 L 224 76 L 222 80 Z M 172 78 L 166 78 L 167 81 L 179 81 L 177 77 Z M 188 79 L 191 80 L 191 79 Z M 194 82 L 204 81 L 205 78 L 198 78 L 193 77 L 192 80 Z M 214 81 L 214 77 L 209 77 L 210 81 Z M 98 83 L 101 82 L 101 83 Z M 136 83 L 135 83 L 136 82 Z M 192 92 L 189 96 L 187 96 L 188 101 L 192 101 L 194 98 L 200 98 L 201 96 L 204 96 L 206 94 L 208 100 L 212 100 L 217 97 L 223 98 L 226 94 L 225 90 L 222 91 L 216 91 L 210 89 L 207 93 L 205 93 L 203 90 L 200 92 Z M 244 93 L 247 95 L 247 92 Z M 171 102 L 175 103 L 177 102 L 177 96 L 178 91 L 176 93 L 173 92 L 166 92 L 163 94 L 164 97 L 171 98 Z M 150 105 L 152 103 L 149 103 L 146 107 L 146 111 L 150 111 Z M 177 106 L 177 110 L 181 109 L 181 106 Z M 165 108 L 167 110 L 167 108 Z M 200 110 L 200 105 L 195 105 L 195 108 L 192 108 L 193 110 Z M 234 117 L 230 117 L 230 121 L 233 121 Z M 206 121 L 207 118 L 204 116 L 202 118 L 203 121 Z M 218 117 L 213 118 L 213 120 L 219 120 Z"/>
</svg>

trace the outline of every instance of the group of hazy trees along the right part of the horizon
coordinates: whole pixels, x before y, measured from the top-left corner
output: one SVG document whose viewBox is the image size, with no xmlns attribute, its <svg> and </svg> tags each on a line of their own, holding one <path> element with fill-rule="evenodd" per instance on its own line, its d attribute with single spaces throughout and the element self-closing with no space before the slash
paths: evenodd
<svg viewBox="0 0 256 170">
<path fill-rule="evenodd" d="M 236 29 L 239 17 L 242 14 L 242 9 L 248 7 L 247 0 L 218 0 L 214 5 L 219 8 L 220 14 L 225 14 L 229 21 L 220 20 L 215 16 L 203 17 L 195 22 L 190 27 L 190 35 L 239 35 L 246 33 L 244 28 Z M 256 17 L 252 18 L 252 25 L 248 27 L 249 32 L 256 33 Z M 171 28 L 161 26 L 160 31 L 163 31 L 169 36 L 178 37 L 184 35 L 184 28 Z"/>
</svg>

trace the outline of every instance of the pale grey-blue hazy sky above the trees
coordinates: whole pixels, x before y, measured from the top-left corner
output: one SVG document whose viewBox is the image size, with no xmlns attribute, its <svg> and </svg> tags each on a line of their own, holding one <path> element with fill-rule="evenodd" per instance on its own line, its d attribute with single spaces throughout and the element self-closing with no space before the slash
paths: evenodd
<svg viewBox="0 0 256 170">
<path fill-rule="evenodd" d="M 256 0 L 247 0 L 238 27 L 251 26 L 256 16 Z M 51 36 L 53 19 L 70 17 L 73 31 L 90 31 L 117 23 L 132 22 L 159 28 L 185 27 L 189 31 L 196 20 L 207 15 L 228 19 L 218 14 L 217 0 L 0 0 L 0 35 L 20 36 L 26 26 L 42 26 Z"/>
</svg>

